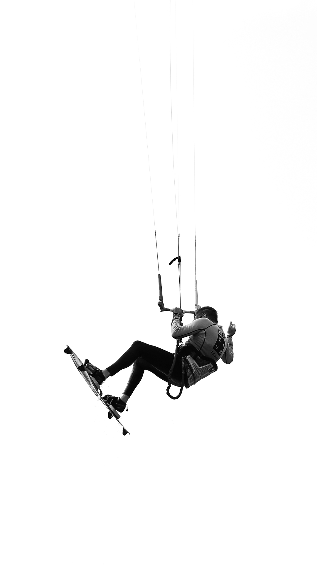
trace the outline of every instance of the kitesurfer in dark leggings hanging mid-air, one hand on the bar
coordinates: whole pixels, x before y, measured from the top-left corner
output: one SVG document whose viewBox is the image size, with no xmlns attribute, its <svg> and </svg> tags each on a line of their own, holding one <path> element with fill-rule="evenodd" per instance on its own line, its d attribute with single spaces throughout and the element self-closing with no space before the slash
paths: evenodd
<svg viewBox="0 0 317 565">
<path fill-rule="evenodd" d="M 230 322 L 227 337 L 222 326 L 218 325 L 218 314 L 209 306 L 198 306 L 195 318 L 189 324 L 182 325 L 183 310 L 174 308 L 171 322 L 171 336 L 177 340 L 189 337 L 186 344 L 178 347 L 177 353 L 170 353 L 160 347 L 134 341 L 131 347 L 115 363 L 104 370 L 95 367 L 88 359 L 85 368 L 96 388 L 100 388 L 110 376 L 133 364 L 129 381 L 121 397 L 110 394 L 103 398 L 118 412 L 123 412 L 126 403 L 140 383 L 144 371 L 150 371 L 166 383 L 174 361 L 170 382 L 175 386 L 190 388 L 199 380 L 217 371 L 219 359 L 226 364 L 234 360 L 232 336 L 236 332 L 235 324 Z M 174 359 L 175 358 L 175 359 Z"/>
</svg>

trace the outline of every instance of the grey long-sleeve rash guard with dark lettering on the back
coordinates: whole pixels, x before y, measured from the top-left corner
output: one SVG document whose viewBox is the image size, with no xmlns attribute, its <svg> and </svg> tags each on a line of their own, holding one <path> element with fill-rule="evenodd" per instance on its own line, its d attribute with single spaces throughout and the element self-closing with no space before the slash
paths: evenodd
<svg viewBox="0 0 317 565">
<path fill-rule="evenodd" d="M 232 336 L 226 337 L 221 325 L 215 324 L 208 318 L 197 318 L 190 324 L 180 325 L 180 315 L 174 314 L 171 322 L 171 337 L 177 340 L 188 336 L 190 338 L 186 343 L 192 345 L 204 357 L 214 359 L 216 363 L 219 359 L 227 364 L 234 360 Z"/>
</svg>

